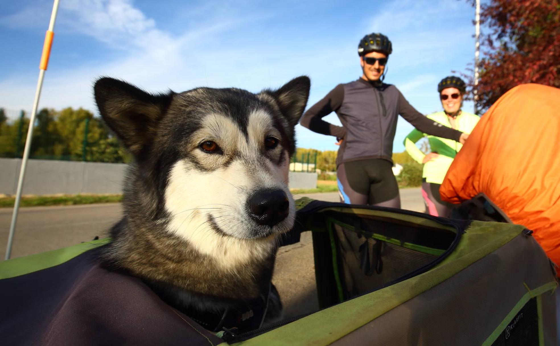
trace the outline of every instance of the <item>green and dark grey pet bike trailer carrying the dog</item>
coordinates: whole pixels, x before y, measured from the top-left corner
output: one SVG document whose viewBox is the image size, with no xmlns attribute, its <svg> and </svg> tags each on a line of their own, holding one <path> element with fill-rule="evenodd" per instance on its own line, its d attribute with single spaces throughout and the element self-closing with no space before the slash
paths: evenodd
<svg viewBox="0 0 560 346">
<path fill-rule="evenodd" d="M 296 203 L 273 277 L 284 321 L 204 330 L 102 269 L 101 240 L 0 263 L 2 345 L 556 345 L 554 269 L 524 227 Z"/>
</svg>

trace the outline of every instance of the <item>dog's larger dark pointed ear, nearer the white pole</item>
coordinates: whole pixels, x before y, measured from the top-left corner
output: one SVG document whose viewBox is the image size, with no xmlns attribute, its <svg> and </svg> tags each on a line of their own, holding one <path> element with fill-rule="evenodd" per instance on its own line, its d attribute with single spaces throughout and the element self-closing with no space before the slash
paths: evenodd
<svg viewBox="0 0 560 346">
<path fill-rule="evenodd" d="M 173 97 L 172 91 L 152 95 L 108 77 L 95 82 L 94 94 L 103 120 L 135 156 L 153 141 L 157 123 Z"/>
</svg>

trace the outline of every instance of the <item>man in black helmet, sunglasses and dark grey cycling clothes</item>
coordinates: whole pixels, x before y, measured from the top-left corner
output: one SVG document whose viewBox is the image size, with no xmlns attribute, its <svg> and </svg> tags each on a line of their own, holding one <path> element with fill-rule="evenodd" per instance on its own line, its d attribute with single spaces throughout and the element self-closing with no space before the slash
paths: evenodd
<svg viewBox="0 0 560 346">
<path fill-rule="evenodd" d="M 314 132 L 337 137 L 337 179 L 344 203 L 400 208 L 399 188 L 391 169 L 399 114 L 423 133 L 461 143 L 468 137 L 426 118 L 410 106 L 394 85 L 383 82 L 391 52 L 387 36 L 364 36 L 358 44 L 362 76 L 337 85 L 310 107 L 300 121 Z M 321 119 L 333 111 L 342 127 Z"/>
</svg>

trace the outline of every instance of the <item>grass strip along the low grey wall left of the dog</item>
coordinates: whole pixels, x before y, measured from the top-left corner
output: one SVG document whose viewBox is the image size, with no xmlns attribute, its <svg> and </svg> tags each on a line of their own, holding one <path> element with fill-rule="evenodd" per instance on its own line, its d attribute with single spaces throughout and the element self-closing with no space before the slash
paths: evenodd
<svg viewBox="0 0 560 346">
<path fill-rule="evenodd" d="M 56 195 L 56 196 L 24 196 L 20 207 L 39 207 L 46 205 L 77 205 L 92 203 L 120 202 L 122 195 Z M 0 198 L 0 208 L 13 208 L 15 197 Z"/>
</svg>

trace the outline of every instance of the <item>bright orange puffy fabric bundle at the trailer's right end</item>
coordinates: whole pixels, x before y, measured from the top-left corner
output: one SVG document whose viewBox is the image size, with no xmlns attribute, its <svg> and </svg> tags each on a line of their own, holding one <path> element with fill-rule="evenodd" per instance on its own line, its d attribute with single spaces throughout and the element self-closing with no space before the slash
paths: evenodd
<svg viewBox="0 0 560 346">
<path fill-rule="evenodd" d="M 560 89 L 524 84 L 500 97 L 455 157 L 440 193 L 451 203 L 486 194 L 512 222 L 533 230 L 560 265 Z"/>
</svg>

